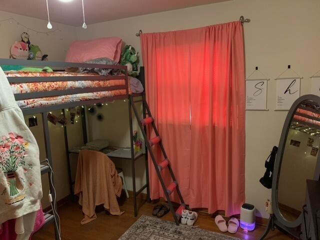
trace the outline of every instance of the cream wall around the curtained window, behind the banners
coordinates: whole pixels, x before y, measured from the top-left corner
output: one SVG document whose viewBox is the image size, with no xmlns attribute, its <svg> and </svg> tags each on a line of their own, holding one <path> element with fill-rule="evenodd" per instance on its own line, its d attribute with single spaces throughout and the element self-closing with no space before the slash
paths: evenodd
<svg viewBox="0 0 320 240">
<path fill-rule="evenodd" d="M 278 145 L 287 114 L 286 111 L 274 111 L 273 78 L 291 64 L 304 76 L 301 94 L 309 92 L 308 77 L 320 68 L 319 11 L 318 0 L 232 0 L 96 23 L 85 30 L 78 27 L 76 32 L 78 39 L 119 36 L 140 51 L 139 38 L 135 36 L 139 29 L 143 32 L 169 31 L 234 21 L 240 15 L 250 18 L 251 22 L 244 24 L 247 75 L 254 66 L 259 66 L 271 80 L 268 83 L 269 111 L 246 112 L 246 201 L 257 207 L 258 215 L 268 217 L 264 202 L 270 197 L 270 190 L 258 180 L 264 173 L 266 156 L 273 145 Z"/>
</svg>

